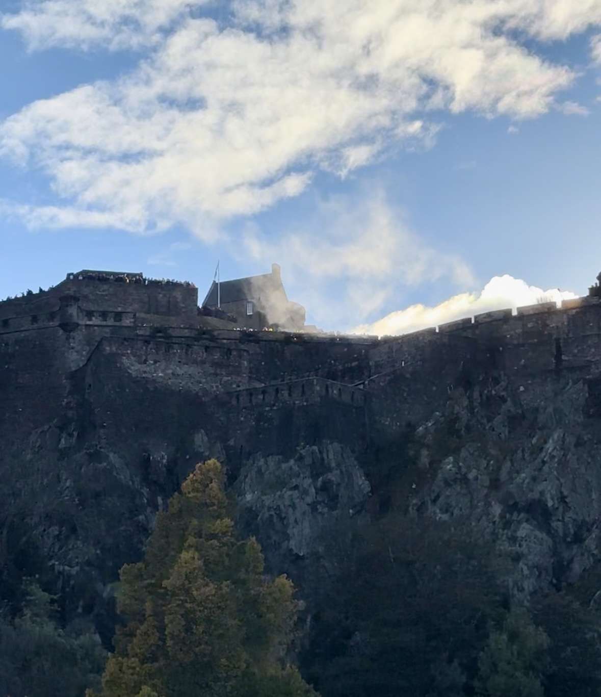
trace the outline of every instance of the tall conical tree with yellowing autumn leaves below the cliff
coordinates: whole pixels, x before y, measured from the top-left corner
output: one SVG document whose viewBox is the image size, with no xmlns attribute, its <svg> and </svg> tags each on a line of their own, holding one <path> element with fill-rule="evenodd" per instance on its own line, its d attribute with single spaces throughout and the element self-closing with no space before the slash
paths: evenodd
<svg viewBox="0 0 601 697">
<path fill-rule="evenodd" d="M 293 595 L 285 576 L 265 578 L 256 540 L 236 538 L 220 464 L 198 465 L 158 514 L 144 560 L 121 569 L 119 611 L 127 622 L 100 694 L 314 695 L 284 665 Z"/>
</svg>

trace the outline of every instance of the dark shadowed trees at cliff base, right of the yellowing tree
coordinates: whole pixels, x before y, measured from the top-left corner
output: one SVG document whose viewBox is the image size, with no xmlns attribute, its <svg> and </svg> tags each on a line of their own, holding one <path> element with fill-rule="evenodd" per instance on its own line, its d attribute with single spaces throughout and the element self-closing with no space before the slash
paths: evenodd
<svg viewBox="0 0 601 697">
<path fill-rule="evenodd" d="M 393 512 L 336 539 L 301 657 L 323 697 L 601 694 L 601 618 L 577 588 L 512 604 L 512 560 L 457 521 Z"/>
</svg>

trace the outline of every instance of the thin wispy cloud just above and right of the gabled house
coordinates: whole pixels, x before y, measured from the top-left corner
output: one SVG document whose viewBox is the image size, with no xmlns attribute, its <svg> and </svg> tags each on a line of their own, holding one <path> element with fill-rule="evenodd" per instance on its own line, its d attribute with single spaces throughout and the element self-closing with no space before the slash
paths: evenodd
<svg viewBox="0 0 601 697">
<path fill-rule="evenodd" d="M 462 288 L 474 284 L 459 256 L 420 240 L 377 188 L 317 201 L 304 224 L 281 230 L 277 240 L 253 225 L 243 240 L 238 256 L 280 263 L 291 298 L 326 328 L 356 324 L 411 286 L 439 279 Z"/>
</svg>

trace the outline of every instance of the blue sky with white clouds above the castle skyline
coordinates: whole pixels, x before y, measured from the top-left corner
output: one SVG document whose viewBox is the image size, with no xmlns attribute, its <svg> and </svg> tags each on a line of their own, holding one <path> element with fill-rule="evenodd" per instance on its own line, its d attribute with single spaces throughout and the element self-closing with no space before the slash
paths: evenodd
<svg viewBox="0 0 601 697">
<path fill-rule="evenodd" d="M 0 298 L 278 261 L 310 321 L 395 332 L 586 293 L 601 0 L 219 8 L 3 3 Z"/>
</svg>

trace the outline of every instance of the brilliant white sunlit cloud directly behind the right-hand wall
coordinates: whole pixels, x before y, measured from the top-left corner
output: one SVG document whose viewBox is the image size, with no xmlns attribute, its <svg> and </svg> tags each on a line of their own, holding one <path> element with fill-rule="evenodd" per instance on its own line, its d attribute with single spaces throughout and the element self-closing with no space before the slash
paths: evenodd
<svg viewBox="0 0 601 697">
<path fill-rule="evenodd" d="M 525 281 L 510 275 L 495 276 L 480 293 L 460 293 L 435 307 L 411 305 L 406 309 L 391 312 L 376 322 L 359 325 L 354 332 L 379 336 L 400 335 L 452 322 L 455 319 L 473 317 L 480 312 L 535 305 L 541 301 L 558 302 L 570 298 L 577 298 L 577 295 L 558 289 L 543 291 L 536 286 L 528 286 Z"/>
</svg>

